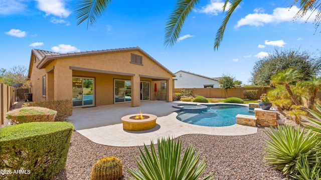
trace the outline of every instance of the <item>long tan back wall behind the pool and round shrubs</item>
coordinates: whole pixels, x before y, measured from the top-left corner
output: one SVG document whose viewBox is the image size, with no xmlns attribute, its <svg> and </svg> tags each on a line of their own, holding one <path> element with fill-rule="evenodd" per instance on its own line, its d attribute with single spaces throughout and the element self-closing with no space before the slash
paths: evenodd
<svg viewBox="0 0 321 180">
<path fill-rule="evenodd" d="M 221 88 L 175 88 L 175 92 L 181 92 L 183 89 L 190 89 L 194 95 L 202 95 L 206 98 L 226 98 L 226 90 Z M 246 99 L 243 95 L 244 90 L 258 90 L 257 99 L 260 98 L 262 93 L 266 93 L 270 90 L 269 87 L 236 87 L 228 89 L 227 93 L 229 97 L 239 97 Z"/>
</svg>

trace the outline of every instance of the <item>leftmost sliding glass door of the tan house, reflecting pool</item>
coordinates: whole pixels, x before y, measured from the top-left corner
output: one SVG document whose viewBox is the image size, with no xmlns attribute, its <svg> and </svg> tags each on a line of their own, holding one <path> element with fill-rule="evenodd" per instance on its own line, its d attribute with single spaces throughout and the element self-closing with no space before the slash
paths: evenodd
<svg viewBox="0 0 321 180">
<path fill-rule="evenodd" d="M 94 78 L 72 78 L 72 103 L 73 106 L 94 105 Z"/>
</svg>

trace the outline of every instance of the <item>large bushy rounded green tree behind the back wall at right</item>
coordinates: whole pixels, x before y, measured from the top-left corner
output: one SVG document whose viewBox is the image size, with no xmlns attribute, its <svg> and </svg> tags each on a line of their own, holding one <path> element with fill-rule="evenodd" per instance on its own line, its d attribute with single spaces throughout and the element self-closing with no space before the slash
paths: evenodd
<svg viewBox="0 0 321 180">
<path fill-rule="evenodd" d="M 294 67 L 302 72 L 301 80 L 308 80 L 318 70 L 314 68 L 315 59 L 316 57 L 311 57 L 307 51 L 276 48 L 273 54 L 255 62 L 250 81 L 255 85 L 270 85 L 272 75 L 289 67 Z"/>
</svg>

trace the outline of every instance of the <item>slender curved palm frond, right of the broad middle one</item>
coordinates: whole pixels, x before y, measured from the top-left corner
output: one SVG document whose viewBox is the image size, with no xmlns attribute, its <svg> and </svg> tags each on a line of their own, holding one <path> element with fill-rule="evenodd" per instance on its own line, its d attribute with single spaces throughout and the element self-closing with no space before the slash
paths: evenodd
<svg viewBox="0 0 321 180">
<path fill-rule="evenodd" d="M 241 1 L 242 0 L 231 0 L 231 5 L 227 10 L 227 13 L 223 19 L 223 22 L 222 22 L 220 28 L 216 32 L 216 37 L 215 37 L 215 41 L 214 41 L 214 50 L 217 50 L 219 48 L 221 41 L 223 39 L 223 35 L 224 35 L 224 31 L 225 31 L 227 22 L 229 21 L 232 13 L 236 9 L 236 7 L 241 3 Z M 225 11 L 227 4 L 228 4 L 228 0 L 225 0 L 224 6 L 223 6 L 224 11 Z"/>
</svg>

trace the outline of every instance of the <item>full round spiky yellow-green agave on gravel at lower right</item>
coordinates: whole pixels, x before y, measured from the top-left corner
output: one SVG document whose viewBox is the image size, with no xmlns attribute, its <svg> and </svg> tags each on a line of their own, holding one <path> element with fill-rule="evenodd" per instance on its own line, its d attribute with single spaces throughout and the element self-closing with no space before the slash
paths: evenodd
<svg viewBox="0 0 321 180">
<path fill-rule="evenodd" d="M 321 157 L 318 147 L 320 141 L 311 129 L 300 129 L 300 126 L 278 125 L 276 129 L 270 127 L 265 131 L 270 140 L 264 140 L 264 158 L 272 168 L 281 170 L 283 174 L 296 174 L 301 158 L 308 162 L 317 162 Z M 309 164 L 309 163 L 308 163 Z"/>
</svg>

